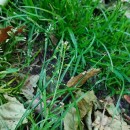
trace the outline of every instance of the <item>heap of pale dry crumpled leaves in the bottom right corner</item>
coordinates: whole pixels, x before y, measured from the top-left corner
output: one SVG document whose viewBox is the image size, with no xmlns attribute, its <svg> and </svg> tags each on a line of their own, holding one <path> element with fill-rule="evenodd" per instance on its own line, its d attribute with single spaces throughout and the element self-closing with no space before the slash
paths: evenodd
<svg viewBox="0 0 130 130">
<path fill-rule="evenodd" d="M 81 118 L 80 123 L 76 120 L 78 118 L 75 112 L 76 108 L 72 107 L 64 118 L 64 130 L 79 130 L 79 125 L 83 123 L 82 127 L 87 127 L 84 128 L 85 130 L 130 130 L 130 126 L 124 121 L 121 113 L 115 112 L 117 109 L 113 103 L 105 105 L 98 101 L 93 91 L 86 93 L 80 91 L 76 93 L 76 96 L 84 94 L 82 100 L 77 103 Z M 73 124 L 76 126 L 74 129 L 72 129 Z"/>
</svg>

